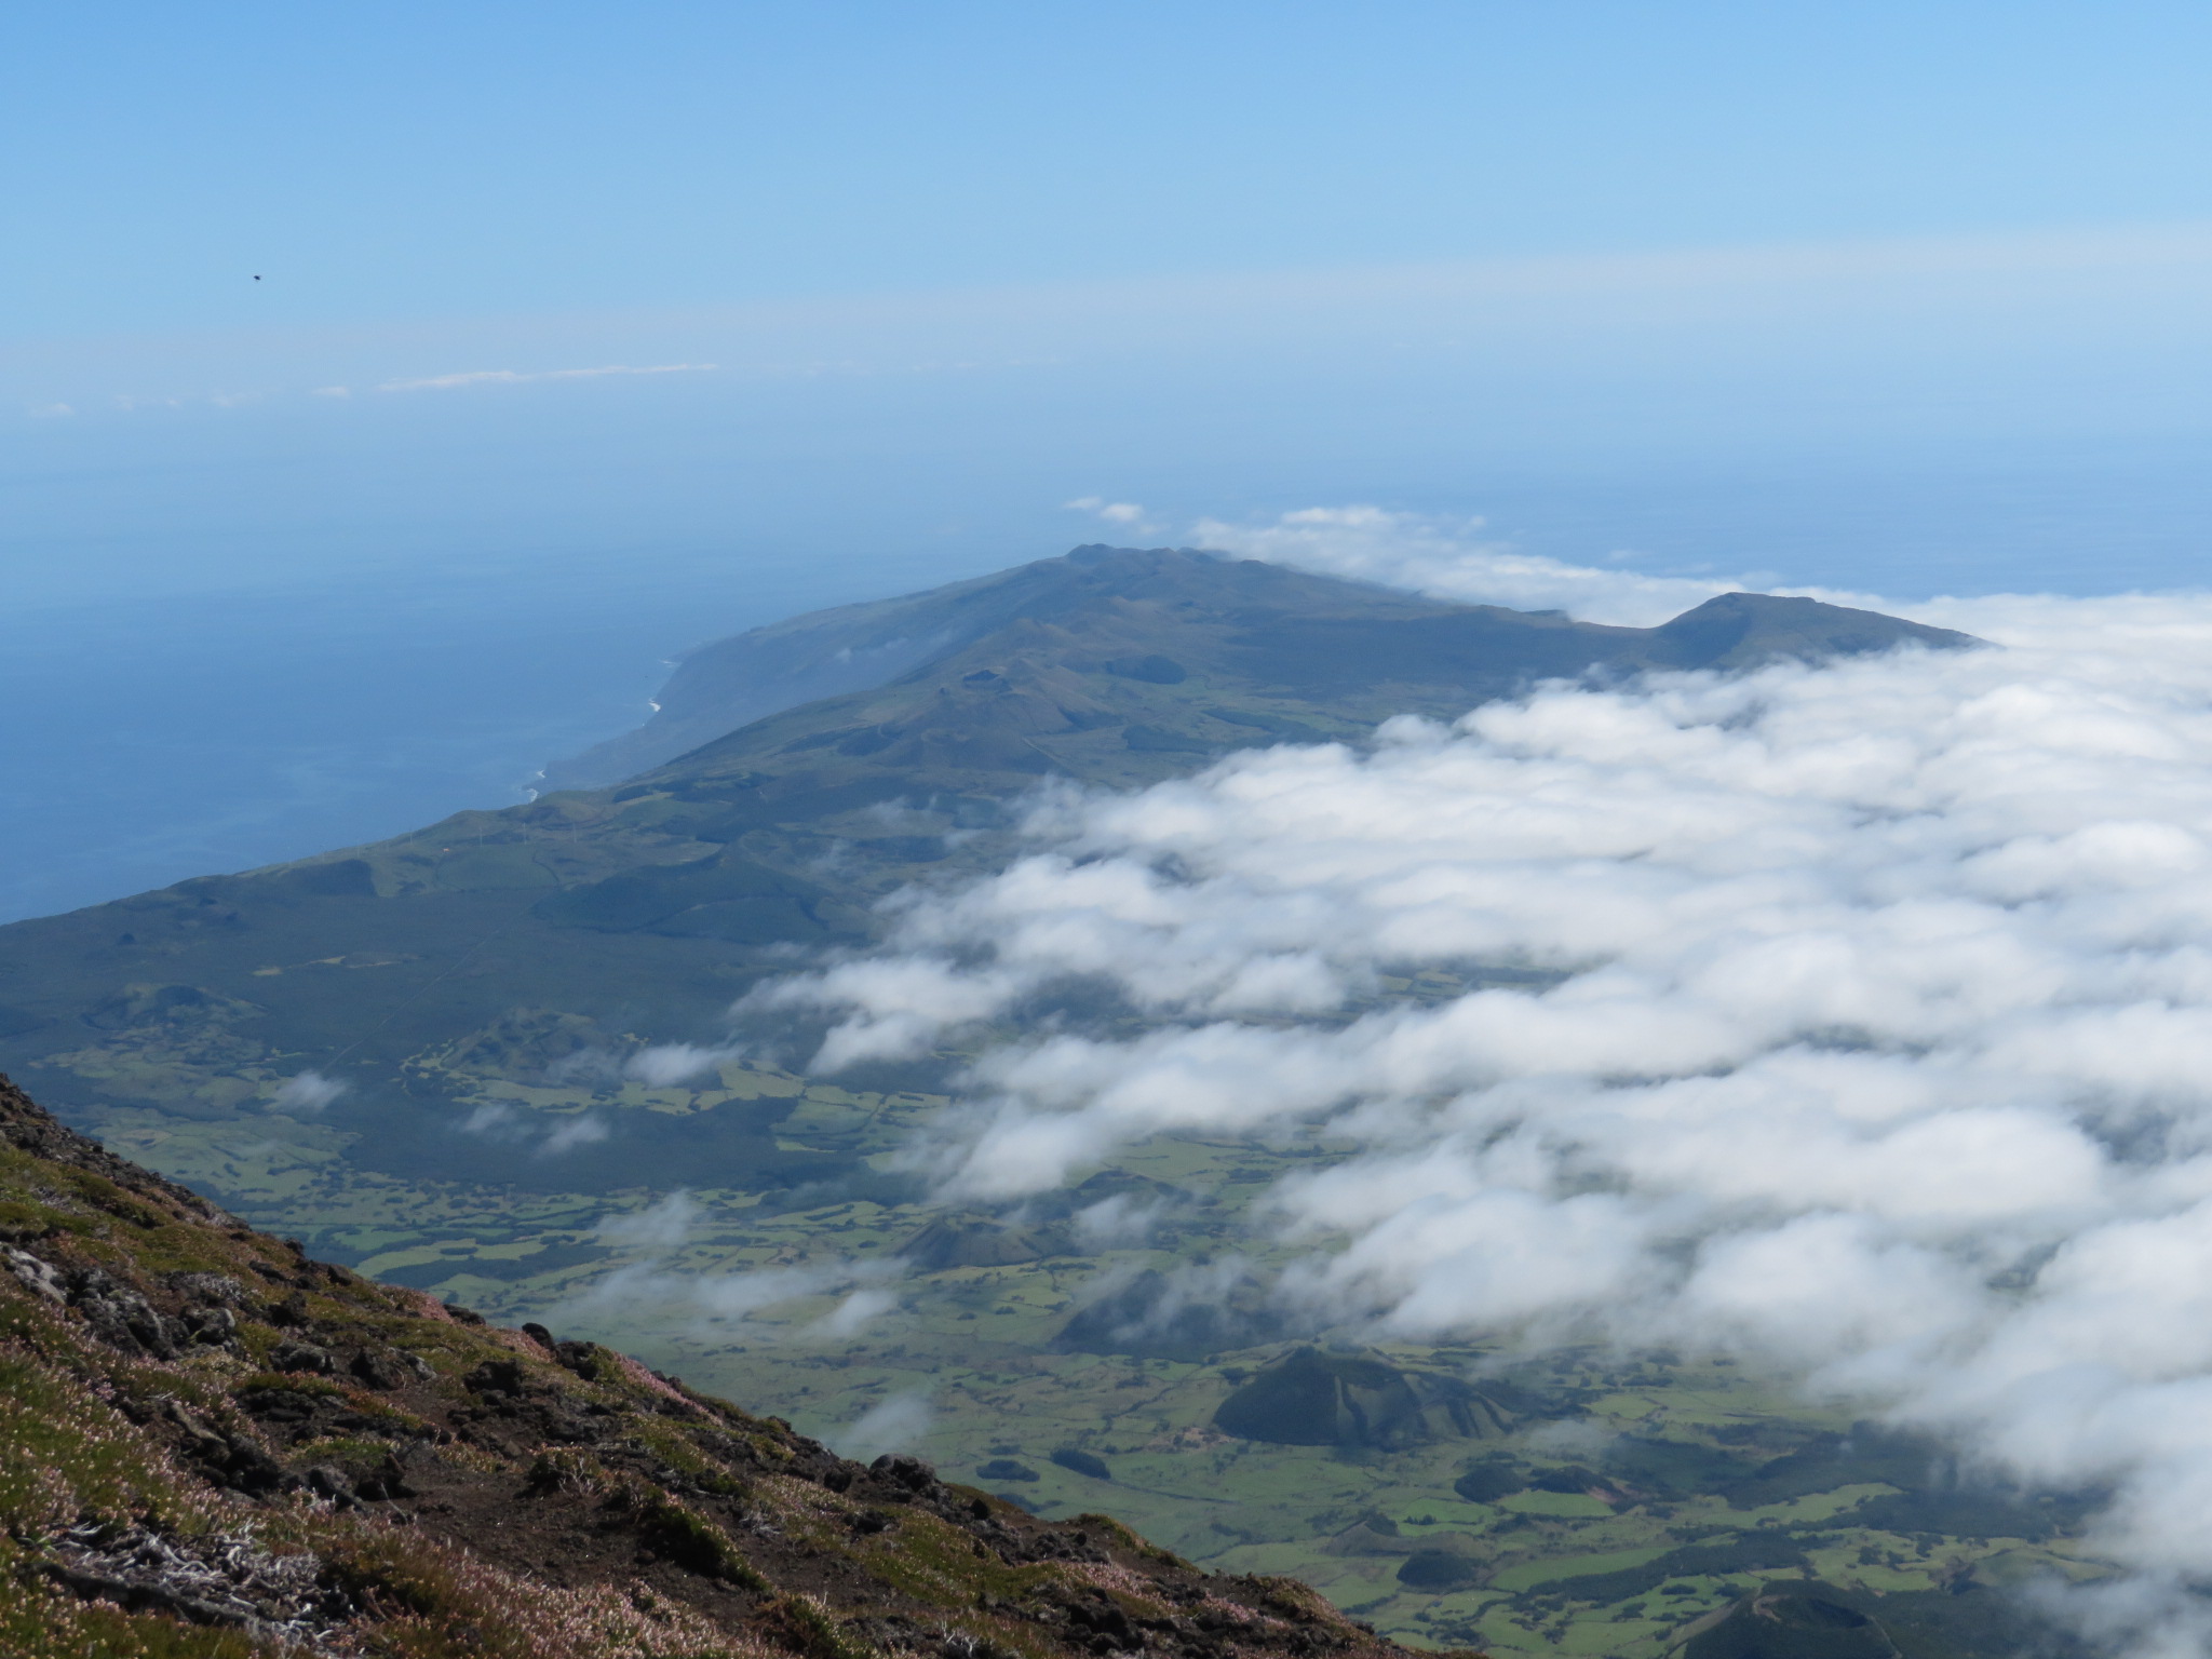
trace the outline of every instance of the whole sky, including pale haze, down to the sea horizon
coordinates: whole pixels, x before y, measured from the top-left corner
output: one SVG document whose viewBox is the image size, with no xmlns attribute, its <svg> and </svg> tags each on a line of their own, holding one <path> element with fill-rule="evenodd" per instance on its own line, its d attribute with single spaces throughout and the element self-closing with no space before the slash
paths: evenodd
<svg viewBox="0 0 2212 1659">
<path fill-rule="evenodd" d="M 274 476 L 407 535 L 577 465 L 679 538 L 741 515 L 622 458 L 655 427 L 774 429 L 768 518 L 905 465 L 1024 524 L 2203 427 L 2201 7 L 111 4 L 0 44 L 0 420 L 33 498 L 135 478 L 186 535 L 164 480 L 228 467 L 288 542 Z M 617 367 L 668 374 L 577 374 Z M 128 538 L 137 487 L 18 526 Z"/>
</svg>

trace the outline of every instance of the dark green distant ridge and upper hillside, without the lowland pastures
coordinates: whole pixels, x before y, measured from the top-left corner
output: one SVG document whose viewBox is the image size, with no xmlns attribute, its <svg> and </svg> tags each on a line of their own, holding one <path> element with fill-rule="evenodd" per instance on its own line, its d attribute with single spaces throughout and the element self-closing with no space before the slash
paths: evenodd
<svg viewBox="0 0 2212 1659">
<path fill-rule="evenodd" d="M 1046 776 L 1135 787 L 1237 748 L 1451 719 L 1544 677 L 1964 644 L 1812 599 L 1725 595 L 1663 628 L 1601 628 L 1126 549 L 858 611 L 878 633 L 883 613 L 925 611 L 900 626 L 947 637 L 960 630 L 945 613 L 984 602 L 993 626 L 889 684 L 768 714 L 619 787 L 0 927 L 0 1060 L 71 1121 L 170 1135 L 261 1117 L 281 1079 L 314 1068 L 347 1093 L 301 1124 L 307 1164 L 560 1183 L 582 1159 L 518 1170 L 498 1137 L 489 1152 L 456 1137 L 456 1108 L 487 1086 L 575 1108 L 606 1091 L 511 1086 L 641 1037 L 719 1031 L 792 947 L 865 940 L 887 891 L 991 867 L 1009 805 Z M 858 637 L 843 615 L 781 630 L 836 657 Z M 768 675 L 794 677 L 787 661 Z M 606 1093 L 624 1133 L 595 1146 L 591 1179 L 650 1181 L 668 1157 L 688 1172 L 681 1146 L 717 1170 L 743 1164 L 748 1183 L 816 1179 L 818 1159 L 768 1146 L 785 1097 L 745 1099 L 672 1126 L 635 1108 L 697 1102 Z M 142 1146 L 164 1166 L 175 1155 Z"/>
</svg>

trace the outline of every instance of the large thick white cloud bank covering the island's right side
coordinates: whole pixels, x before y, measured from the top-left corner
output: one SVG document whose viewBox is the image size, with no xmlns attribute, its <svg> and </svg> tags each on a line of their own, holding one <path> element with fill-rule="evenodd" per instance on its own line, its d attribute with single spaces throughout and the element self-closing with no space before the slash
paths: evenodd
<svg viewBox="0 0 2212 1659">
<path fill-rule="evenodd" d="M 1575 580 L 1621 619 L 1705 593 Z M 989 1048 L 933 1128 L 947 1192 L 1325 1124 L 1360 1150 L 1272 1192 L 1310 1245 L 1283 1296 L 1756 1352 L 2011 1475 L 2110 1482 L 2095 1542 L 2139 1577 L 2095 1617 L 2185 1641 L 2159 1586 L 2212 1577 L 2212 599 L 1909 611 L 2002 648 L 1562 686 L 1048 796 L 1031 856 L 770 1000 L 838 1020 L 834 1068 L 1108 987 L 1155 1026 Z M 1460 978 L 1374 1000 L 1420 969 Z"/>
</svg>

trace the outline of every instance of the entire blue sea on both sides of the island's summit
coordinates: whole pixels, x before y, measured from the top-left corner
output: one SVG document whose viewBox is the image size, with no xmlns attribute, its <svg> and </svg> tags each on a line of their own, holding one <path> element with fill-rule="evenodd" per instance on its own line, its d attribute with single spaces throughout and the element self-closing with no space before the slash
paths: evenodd
<svg viewBox="0 0 2212 1659">
<path fill-rule="evenodd" d="M 1150 482 L 1166 522 L 1380 500 L 1482 513 L 1531 553 L 1646 571 L 1767 571 L 1896 597 L 2199 586 L 2212 471 L 2194 447 L 1743 471 L 1394 480 L 1245 471 Z M 987 480 L 973 480 L 987 489 Z M 1035 491 L 1031 491 L 1035 498 Z M 0 617 L 0 918 L 372 841 L 526 799 L 535 770 L 635 726 L 672 653 L 796 611 L 902 593 L 1097 540 L 1053 500 L 785 515 L 659 546 L 478 546 L 204 577 L 49 584 Z M 181 538 L 179 538 L 181 540 Z M 1137 540 L 1177 540 L 1172 533 Z M 159 538 L 150 538 L 159 549 Z M 11 557 L 33 557 L 18 551 Z M 250 568 L 248 568 L 250 566 Z M 241 573 L 243 571 L 243 573 Z M 142 593 L 139 586 L 157 586 Z"/>
</svg>

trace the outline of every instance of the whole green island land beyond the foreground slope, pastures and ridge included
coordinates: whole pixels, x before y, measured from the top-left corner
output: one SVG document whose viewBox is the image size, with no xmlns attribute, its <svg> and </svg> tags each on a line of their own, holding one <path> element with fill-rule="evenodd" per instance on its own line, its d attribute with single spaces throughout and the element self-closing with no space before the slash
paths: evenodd
<svg viewBox="0 0 2212 1659">
<path fill-rule="evenodd" d="M 962 1055 L 823 1082 L 794 1071 L 812 1033 L 754 1029 L 681 1084 L 624 1066 L 728 1037 L 737 995 L 865 942 L 885 894 L 993 867 L 1051 776 L 1144 785 L 1544 677 L 1971 641 L 1759 595 L 1597 628 L 1079 549 L 714 648 L 686 719 L 916 630 L 936 644 L 880 684 L 619 785 L 0 929 L 0 1055 L 71 1124 L 361 1274 L 776 1400 L 810 1433 L 905 1411 L 947 1471 L 1026 1509 L 1110 1500 L 1190 1559 L 1298 1573 L 1409 1641 L 1659 1655 L 1816 1579 L 1834 1606 L 1878 1597 L 1880 1628 L 1938 1659 L 2002 1650 L 1960 1608 L 2002 1630 L 2006 1586 L 2099 1571 L 2075 1509 L 1962 1489 L 1781 1378 L 1287 1327 L 1245 1208 L 1340 1157 L 1325 1139 L 1161 1137 L 1020 1214 L 947 1212 L 891 1155 Z M 1055 1015 L 1126 1018 L 1077 993 Z M 1152 1228 L 1084 1225 L 1113 1201 Z M 1219 1294 L 1166 1307 L 1179 1267 Z M 781 1296 L 717 1290 L 754 1272 Z M 847 1318 L 860 1292 L 869 1321 Z"/>
</svg>

